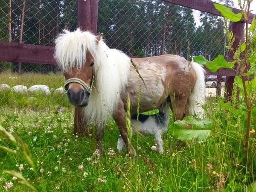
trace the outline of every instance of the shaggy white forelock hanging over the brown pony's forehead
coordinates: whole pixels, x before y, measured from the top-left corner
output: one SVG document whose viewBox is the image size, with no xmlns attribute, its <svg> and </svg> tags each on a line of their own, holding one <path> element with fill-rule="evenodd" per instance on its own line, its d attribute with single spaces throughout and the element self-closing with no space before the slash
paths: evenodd
<svg viewBox="0 0 256 192">
<path fill-rule="evenodd" d="M 81 70 L 86 61 L 86 52 L 95 55 L 95 37 L 91 32 L 82 32 L 79 28 L 74 32 L 64 30 L 55 40 L 54 58 L 58 65 L 64 71 L 70 71 L 72 68 Z"/>
</svg>

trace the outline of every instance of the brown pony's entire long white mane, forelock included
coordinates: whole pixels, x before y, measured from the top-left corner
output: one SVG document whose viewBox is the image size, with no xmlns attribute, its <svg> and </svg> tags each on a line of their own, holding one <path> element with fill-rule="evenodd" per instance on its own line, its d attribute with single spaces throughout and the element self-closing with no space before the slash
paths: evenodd
<svg viewBox="0 0 256 192">
<path fill-rule="evenodd" d="M 64 71 L 73 67 L 81 69 L 86 61 L 86 52 L 93 55 L 94 84 L 84 115 L 96 123 L 107 120 L 116 110 L 128 82 L 130 58 L 119 50 L 110 49 L 102 40 L 98 42 L 92 33 L 81 32 L 80 29 L 65 31 L 55 43 L 55 58 Z"/>
</svg>

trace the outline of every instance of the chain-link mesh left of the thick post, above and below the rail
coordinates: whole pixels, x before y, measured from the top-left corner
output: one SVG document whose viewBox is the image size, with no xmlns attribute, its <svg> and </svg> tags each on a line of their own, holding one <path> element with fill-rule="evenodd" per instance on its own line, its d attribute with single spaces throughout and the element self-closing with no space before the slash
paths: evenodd
<svg viewBox="0 0 256 192">
<path fill-rule="evenodd" d="M 0 41 L 54 46 L 61 30 L 76 29 L 76 15 L 77 1 L 1 0 Z M 70 107 L 63 84 L 56 65 L 0 61 L 0 112 Z"/>
</svg>

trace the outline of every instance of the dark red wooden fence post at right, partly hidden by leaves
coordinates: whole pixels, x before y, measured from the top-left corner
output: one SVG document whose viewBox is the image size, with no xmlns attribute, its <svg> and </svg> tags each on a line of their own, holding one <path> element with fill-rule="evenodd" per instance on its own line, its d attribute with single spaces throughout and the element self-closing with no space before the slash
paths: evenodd
<svg viewBox="0 0 256 192">
<path fill-rule="evenodd" d="M 244 22 L 230 22 L 230 28 L 233 31 L 233 36 L 236 36 L 236 39 L 233 43 L 233 49 L 234 52 L 236 52 L 236 49 L 239 46 L 239 43 L 241 41 L 241 43 L 244 42 Z M 229 52 L 229 61 L 234 61 L 233 59 L 234 54 L 233 52 Z M 235 68 L 236 70 L 238 70 L 237 64 L 235 64 Z M 235 77 L 231 77 L 231 76 L 227 76 L 226 77 L 226 85 L 225 85 L 225 98 L 226 101 L 230 101 L 231 96 L 232 96 L 232 90 L 233 90 L 233 83 L 234 83 Z"/>
</svg>

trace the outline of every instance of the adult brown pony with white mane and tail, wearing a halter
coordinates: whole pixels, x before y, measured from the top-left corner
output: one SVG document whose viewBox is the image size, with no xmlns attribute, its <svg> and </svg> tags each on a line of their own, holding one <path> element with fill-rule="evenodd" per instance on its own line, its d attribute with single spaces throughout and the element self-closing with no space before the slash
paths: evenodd
<svg viewBox="0 0 256 192">
<path fill-rule="evenodd" d="M 95 121 L 100 155 L 104 122 L 112 116 L 126 153 L 136 156 L 126 129 L 128 95 L 131 113 L 137 113 L 137 108 L 139 113 L 159 108 L 170 97 L 175 121 L 186 115 L 204 115 L 205 71 L 201 65 L 178 55 L 130 59 L 124 52 L 109 48 L 102 35 L 64 30 L 55 39 L 54 53 L 63 70 L 69 102 L 83 108 L 84 119 Z"/>
</svg>

